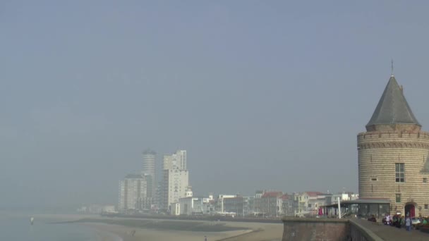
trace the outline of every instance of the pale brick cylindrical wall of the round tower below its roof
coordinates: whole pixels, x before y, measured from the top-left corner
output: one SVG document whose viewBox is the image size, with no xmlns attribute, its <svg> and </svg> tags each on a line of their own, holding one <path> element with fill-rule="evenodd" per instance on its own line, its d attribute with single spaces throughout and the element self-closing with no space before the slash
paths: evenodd
<svg viewBox="0 0 429 241">
<path fill-rule="evenodd" d="M 429 154 L 428 132 L 362 132 L 358 135 L 359 196 L 390 199 L 391 213 L 416 206 L 416 216 L 429 216 L 428 173 L 421 173 Z M 404 163 L 405 182 L 395 181 L 395 163 Z M 400 195 L 400 202 L 396 200 Z"/>
</svg>

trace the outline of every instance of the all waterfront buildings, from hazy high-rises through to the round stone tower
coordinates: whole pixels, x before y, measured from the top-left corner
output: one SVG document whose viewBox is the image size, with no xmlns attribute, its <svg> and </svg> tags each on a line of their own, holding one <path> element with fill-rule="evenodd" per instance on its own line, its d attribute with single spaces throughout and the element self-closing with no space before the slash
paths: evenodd
<svg viewBox="0 0 429 241">
<path fill-rule="evenodd" d="M 429 216 L 429 132 L 421 127 L 404 97 L 404 89 L 392 75 L 365 126 L 366 132 L 358 134 L 357 212 L 367 210 L 364 215 L 368 215 L 377 210 L 380 215 L 382 206 L 382 212 Z M 143 154 L 143 173 L 121 180 L 120 211 L 305 216 L 334 202 L 334 194 L 318 192 L 193 197 L 186 151 L 165 155 L 163 164 L 162 180 L 155 188 L 155 152 Z M 355 198 L 357 195 L 341 194 L 343 200 Z"/>
</svg>

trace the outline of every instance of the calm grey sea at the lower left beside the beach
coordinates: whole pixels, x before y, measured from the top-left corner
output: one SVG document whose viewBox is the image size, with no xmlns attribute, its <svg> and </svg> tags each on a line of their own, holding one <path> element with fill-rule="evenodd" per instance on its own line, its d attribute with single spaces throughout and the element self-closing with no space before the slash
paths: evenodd
<svg viewBox="0 0 429 241">
<path fill-rule="evenodd" d="M 94 230 L 78 224 L 52 224 L 52 219 L 3 216 L 0 214 L 1 241 L 95 241 Z"/>
</svg>

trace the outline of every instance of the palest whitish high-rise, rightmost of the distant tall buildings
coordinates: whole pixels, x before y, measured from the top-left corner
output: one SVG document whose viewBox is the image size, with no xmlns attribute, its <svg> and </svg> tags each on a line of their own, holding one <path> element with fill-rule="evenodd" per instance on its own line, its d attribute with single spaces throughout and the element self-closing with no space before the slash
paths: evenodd
<svg viewBox="0 0 429 241">
<path fill-rule="evenodd" d="M 186 169 L 186 151 L 179 150 L 164 155 L 162 172 L 161 208 L 171 209 L 171 204 L 185 197 L 189 186 L 189 173 Z"/>
</svg>

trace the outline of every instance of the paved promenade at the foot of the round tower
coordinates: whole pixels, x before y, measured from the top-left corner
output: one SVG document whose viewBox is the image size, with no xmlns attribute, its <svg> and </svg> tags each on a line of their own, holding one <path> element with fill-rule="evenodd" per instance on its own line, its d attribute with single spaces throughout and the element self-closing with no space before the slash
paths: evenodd
<svg viewBox="0 0 429 241">
<path fill-rule="evenodd" d="M 407 232 L 405 228 L 395 228 L 382 223 L 373 223 L 363 219 L 354 219 L 356 223 L 363 225 L 364 228 L 368 228 L 373 231 L 375 235 L 382 238 L 382 240 L 404 240 L 404 241 L 420 241 L 420 240 L 429 240 L 429 234 L 423 233 L 420 230 L 411 230 Z"/>
</svg>

